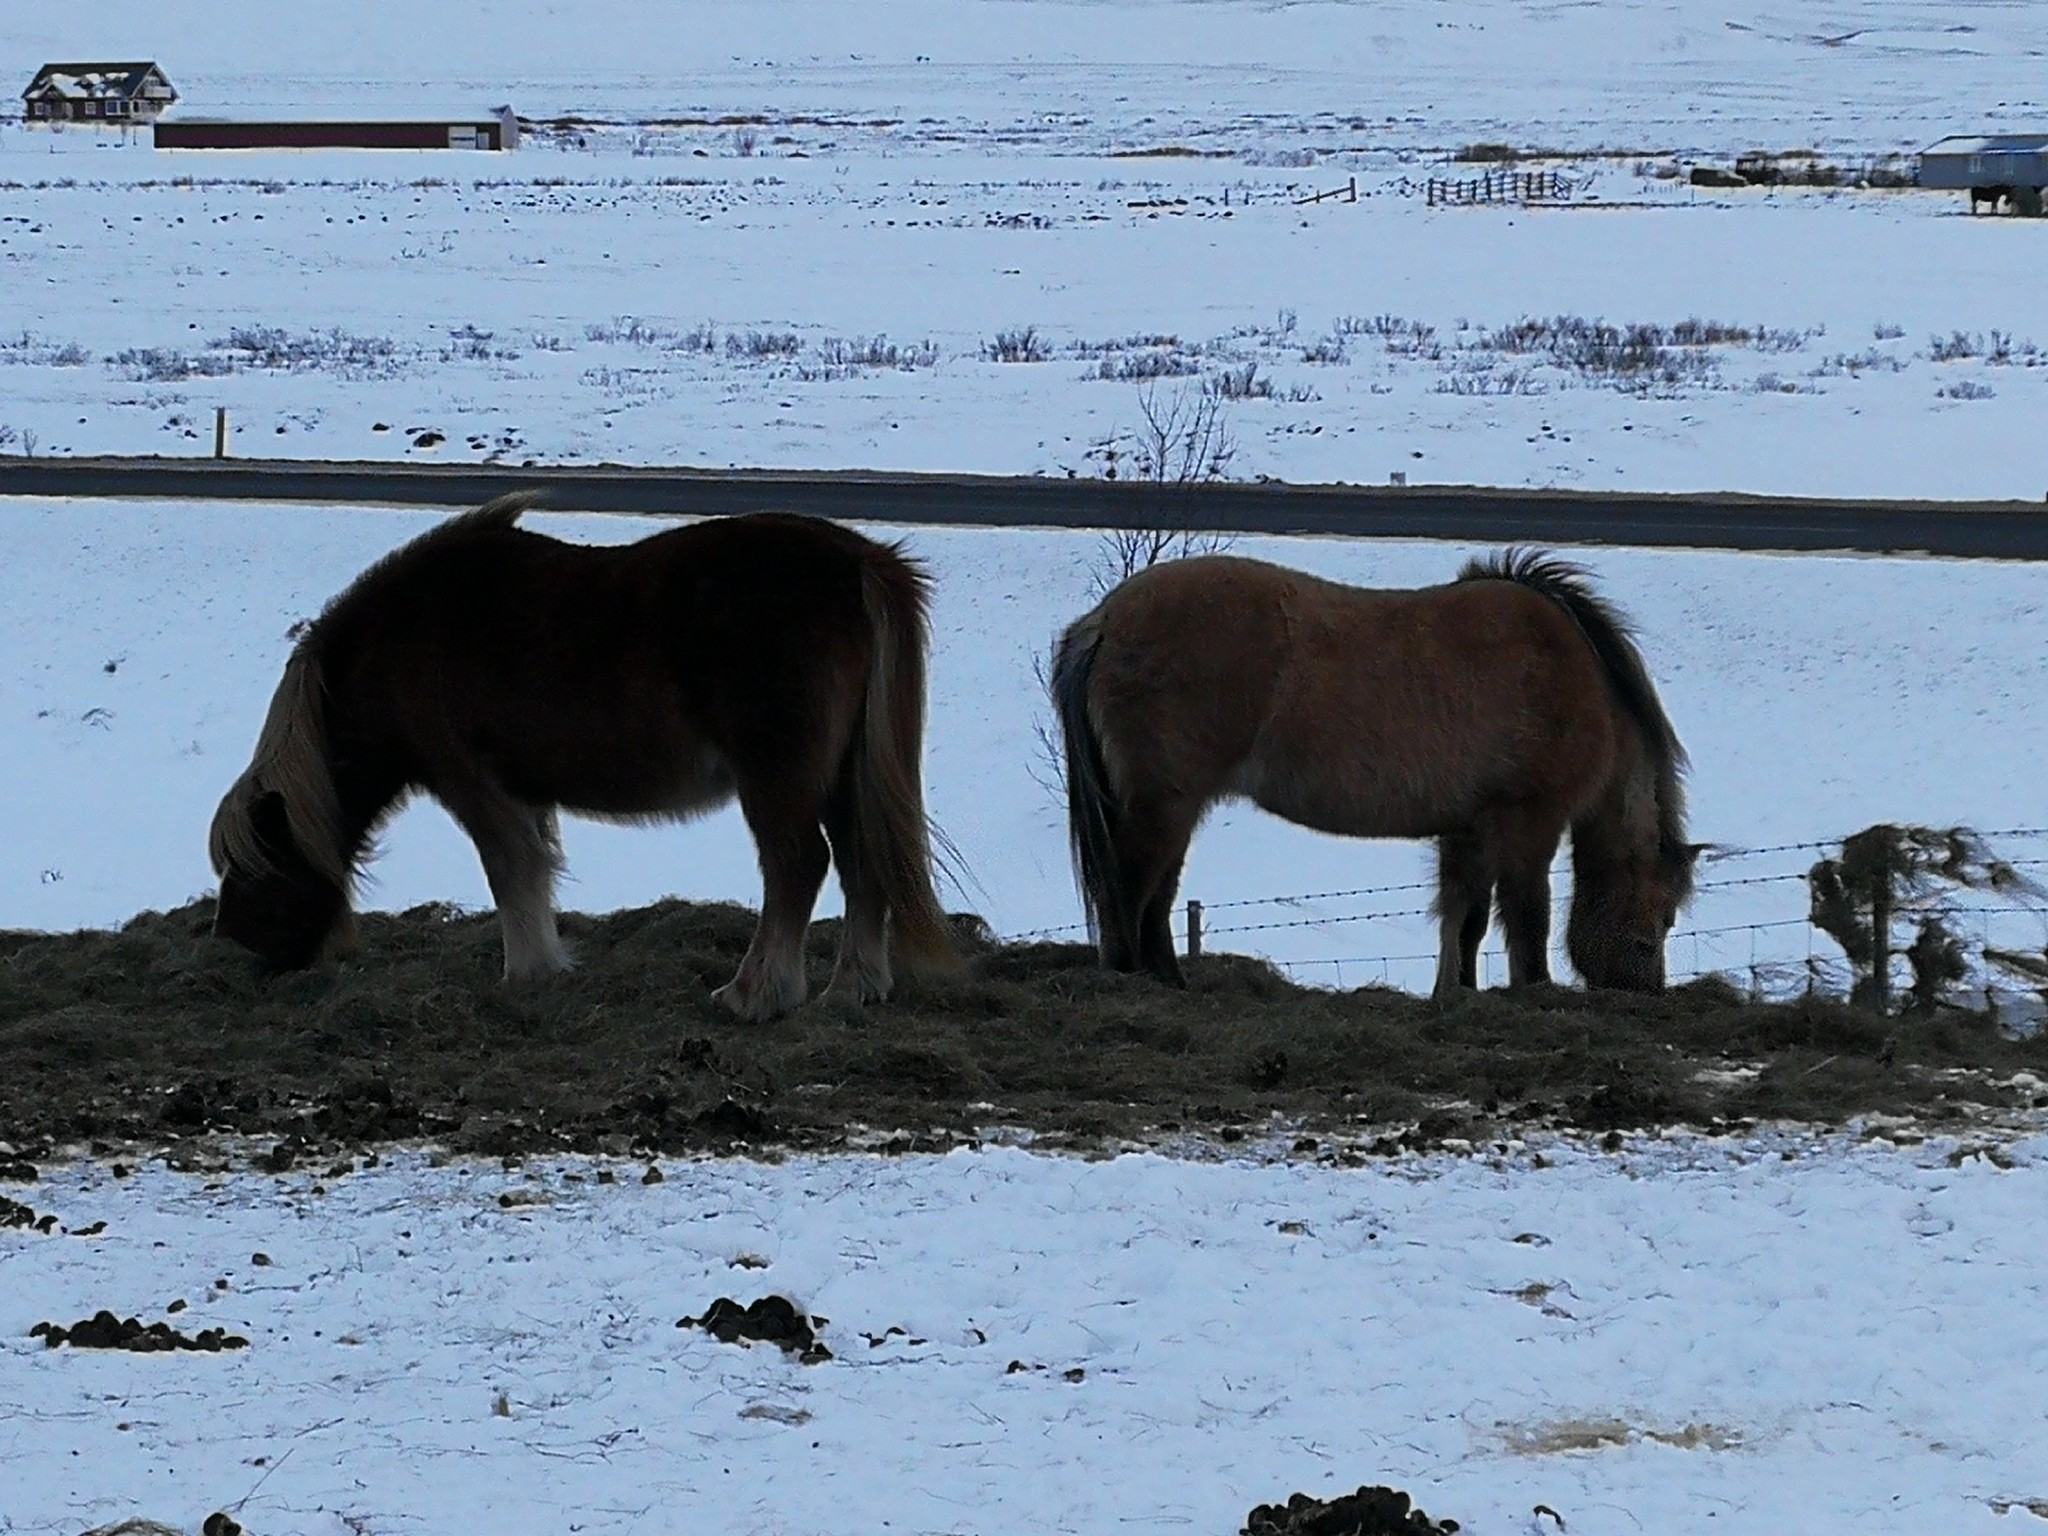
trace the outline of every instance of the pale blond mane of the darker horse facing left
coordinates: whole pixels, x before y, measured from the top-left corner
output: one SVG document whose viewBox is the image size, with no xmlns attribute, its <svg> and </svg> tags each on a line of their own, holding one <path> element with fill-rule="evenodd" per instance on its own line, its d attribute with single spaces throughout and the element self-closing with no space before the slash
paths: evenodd
<svg viewBox="0 0 2048 1536">
<path fill-rule="evenodd" d="M 328 764 L 324 655 L 332 618 L 385 571 L 406 565 L 430 549 L 506 532 L 518 522 L 520 512 L 539 500 L 541 492 L 512 492 L 428 528 L 362 571 L 340 596 L 328 602 L 319 618 L 307 625 L 285 662 L 285 676 L 279 680 L 276 692 L 270 696 L 270 711 L 256 735 L 250 766 L 242 770 L 242 776 L 221 799 L 219 811 L 213 813 L 207 854 L 215 874 L 225 874 L 229 864 L 252 874 L 276 868 L 276 858 L 264 848 L 256 827 L 256 805 L 266 795 L 276 795 L 299 858 L 322 879 L 332 881 L 336 889 L 350 889 L 356 870 L 350 850 L 344 846 L 342 805 L 334 788 L 334 770 Z"/>
</svg>

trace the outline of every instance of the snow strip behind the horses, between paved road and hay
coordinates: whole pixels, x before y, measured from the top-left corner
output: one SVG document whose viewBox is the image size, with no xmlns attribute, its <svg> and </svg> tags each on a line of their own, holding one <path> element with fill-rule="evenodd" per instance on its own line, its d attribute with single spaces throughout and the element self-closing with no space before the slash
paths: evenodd
<svg viewBox="0 0 2048 1536">
<path fill-rule="evenodd" d="M 117 924 L 211 885 L 205 827 L 248 760 L 289 651 L 287 631 L 426 512 L 0 502 L 0 803 L 35 807 L 0 846 L 0 926 Z M 573 539 L 647 522 L 541 516 Z M 963 893 L 1004 934 L 1079 936 L 1057 760 L 1036 668 L 1087 608 L 1102 539 L 1087 532 L 877 528 L 936 578 L 930 803 L 965 854 Z M 1425 586 L 1473 553 L 1434 543 L 1245 539 L 1239 553 L 1327 575 Z M 1831 954 L 1800 874 L 1812 844 L 1872 821 L 2044 825 L 2042 612 L 2048 567 L 1991 561 L 1585 551 L 1642 627 L 1665 705 L 1692 750 L 1692 829 L 1731 850 L 1671 946 L 1677 973 Z M 668 829 L 567 825 L 563 905 L 659 895 L 754 903 L 737 811 Z M 487 907 L 475 852 L 432 805 L 383 840 L 373 905 Z M 1784 844 L 1800 844 L 1784 848 Z M 1997 840 L 2009 858 L 2048 838 Z M 1774 848 L 1769 854 L 1735 850 Z M 1225 807 L 1194 844 L 1184 893 L 1210 907 L 1214 948 L 1296 963 L 1317 983 L 1425 987 L 1434 924 L 1421 844 L 1362 844 Z M 1565 889 L 1565 872 L 1559 872 Z M 1393 889 L 1382 889 L 1393 887 Z M 1307 893 L 1358 893 L 1298 901 Z M 836 909 L 827 891 L 821 911 Z M 1231 903 L 1257 901 L 1233 907 Z M 1391 915 L 1389 915 L 1391 913 Z M 2038 913 L 1972 938 L 2040 948 Z M 1561 961 L 1563 965 L 1563 961 Z M 1499 973 L 1493 973 L 1499 979 Z"/>
</svg>

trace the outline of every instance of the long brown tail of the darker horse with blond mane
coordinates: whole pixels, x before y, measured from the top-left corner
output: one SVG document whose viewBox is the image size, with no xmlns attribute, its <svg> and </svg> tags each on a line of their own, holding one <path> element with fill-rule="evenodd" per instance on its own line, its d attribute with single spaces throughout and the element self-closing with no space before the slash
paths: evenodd
<svg viewBox="0 0 2048 1536">
<path fill-rule="evenodd" d="M 932 844 L 948 844 L 924 809 L 924 657 L 930 578 L 895 547 L 860 565 L 868 618 L 868 686 L 852 752 L 858 858 L 889 903 L 891 938 L 911 971 L 950 971 L 961 952 L 932 885 Z"/>
</svg>

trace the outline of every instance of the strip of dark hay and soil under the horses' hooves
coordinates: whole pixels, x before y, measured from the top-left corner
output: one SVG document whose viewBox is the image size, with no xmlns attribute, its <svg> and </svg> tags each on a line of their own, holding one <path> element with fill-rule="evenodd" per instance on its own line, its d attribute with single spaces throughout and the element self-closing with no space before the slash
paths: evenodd
<svg viewBox="0 0 2048 1536">
<path fill-rule="evenodd" d="M 1313 991 L 1262 961 L 1190 963 L 1188 991 L 1108 975 L 1077 944 L 975 942 L 965 975 L 858 1012 L 741 1024 L 711 1001 L 754 913 L 666 901 L 565 915 L 567 977 L 504 985 L 498 922 L 369 913 L 338 971 L 262 977 L 211 903 L 121 932 L 0 934 L 0 1153 L 266 1139 L 283 1171 L 338 1147 L 457 1151 L 946 1147 L 989 1126 L 1055 1145 L 1276 1128 L 1356 1157 L 1509 1126 L 1593 1133 L 1884 1110 L 1958 1126 L 2036 1100 L 2048 1036 L 1966 1012 L 1882 1018 L 1751 1004 L 1708 979 L 1640 997 L 1536 987 L 1450 1008 Z M 963 920 L 963 930 L 977 930 Z M 836 924 L 811 936 L 821 987 Z M 1755 1075 L 1714 1069 L 1757 1067 Z M 1278 1122 L 1274 1120 L 1278 1116 Z"/>
</svg>

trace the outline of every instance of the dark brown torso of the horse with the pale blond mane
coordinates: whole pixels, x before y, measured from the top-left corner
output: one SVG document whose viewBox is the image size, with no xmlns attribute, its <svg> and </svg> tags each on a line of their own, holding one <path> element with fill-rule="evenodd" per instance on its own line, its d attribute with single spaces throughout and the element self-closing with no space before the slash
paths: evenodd
<svg viewBox="0 0 2048 1536">
<path fill-rule="evenodd" d="M 481 764 L 514 797 L 598 815 L 686 813 L 731 791 L 735 762 L 844 741 L 870 645 L 862 571 L 918 588 L 815 518 L 627 545 L 463 522 L 367 571 L 309 637 L 346 750 L 428 791 Z"/>
</svg>

